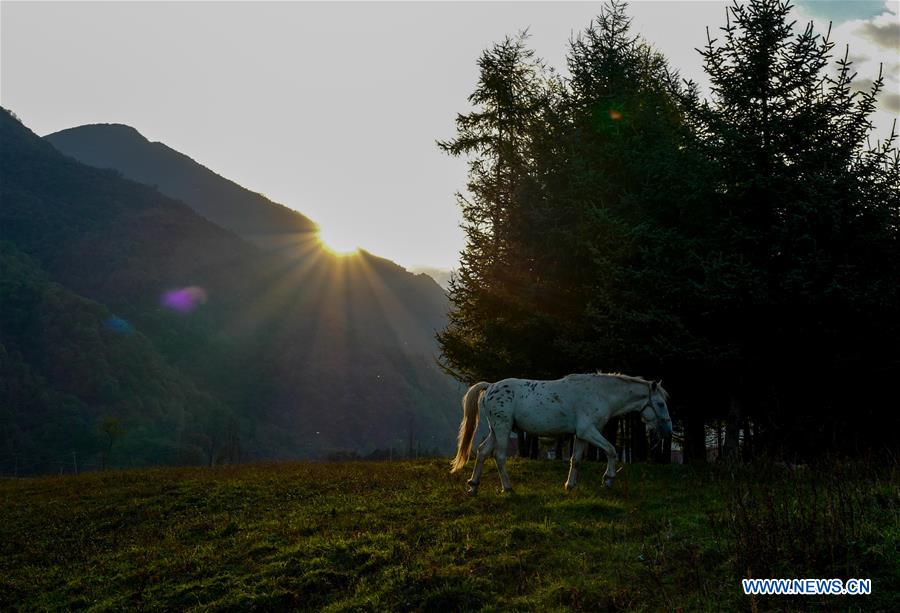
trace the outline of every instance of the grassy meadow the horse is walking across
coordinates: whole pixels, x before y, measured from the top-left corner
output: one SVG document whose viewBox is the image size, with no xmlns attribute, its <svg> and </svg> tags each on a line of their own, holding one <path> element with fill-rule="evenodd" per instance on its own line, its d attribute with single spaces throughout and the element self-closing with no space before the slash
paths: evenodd
<svg viewBox="0 0 900 613">
<path fill-rule="evenodd" d="M 587 463 L 565 494 L 565 463 L 512 460 L 515 494 L 491 466 L 470 498 L 447 465 L 0 481 L 0 610 L 900 610 L 896 467 L 630 465 L 603 490 Z M 873 594 L 751 599 L 745 565 Z"/>
</svg>

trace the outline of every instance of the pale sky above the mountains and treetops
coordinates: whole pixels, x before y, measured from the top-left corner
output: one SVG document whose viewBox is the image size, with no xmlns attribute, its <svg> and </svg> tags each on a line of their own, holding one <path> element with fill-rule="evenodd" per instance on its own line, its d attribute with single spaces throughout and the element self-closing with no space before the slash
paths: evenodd
<svg viewBox="0 0 900 613">
<path fill-rule="evenodd" d="M 861 85 L 884 64 L 875 117 L 900 114 L 900 1 L 799 0 L 850 56 Z M 635 33 L 706 84 L 695 48 L 720 0 L 632 2 Z M 470 110 L 481 51 L 528 28 L 563 73 L 598 2 L 0 2 L 0 104 L 39 135 L 123 123 L 312 218 L 338 250 L 410 268 L 457 265 L 454 193 L 465 161 L 441 153 Z"/>
</svg>

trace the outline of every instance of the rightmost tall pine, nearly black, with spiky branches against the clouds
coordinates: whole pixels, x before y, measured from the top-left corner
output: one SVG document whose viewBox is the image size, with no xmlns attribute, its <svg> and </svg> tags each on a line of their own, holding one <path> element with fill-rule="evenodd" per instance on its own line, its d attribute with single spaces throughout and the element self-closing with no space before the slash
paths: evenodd
<svg viewBox="0 0 900 613">
<path fill-rule="evenodd" d="M 715 339 L 733 394 L 732 451 L 748 416 L 774 445 L 811 424 L 833 436 L 845 400 L 834 382 L 887 367 L 878 336 L 897 339 L 894 137 L 866 140 L 883 81 L 855 91 L 846 54 L 830 70 L 833 43 L 811 24 L 795 33 L 790 13 L 781 0 L 735 3 L 701 51 L 710 99 L 685 97 L 718 168 L 696 325 Z"/>
</svg>

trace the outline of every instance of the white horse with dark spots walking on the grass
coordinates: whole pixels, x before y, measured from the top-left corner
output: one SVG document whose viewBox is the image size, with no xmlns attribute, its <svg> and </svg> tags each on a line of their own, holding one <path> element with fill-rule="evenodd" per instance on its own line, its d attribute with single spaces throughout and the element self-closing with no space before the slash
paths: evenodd
<svg viewBox="0 0 900 613">
<path fill-rule="evenodd" d="M 555 381 L 503 379 L 476 383 L 463 396 L 456 457 L 451 472 L 462 469 L 472 451 L 478 414 L 487 411 L 490 432 L 478 446 L 469 493 L 478 492 L 484 461 L 494 456 L 503 491 L 512 491 L 506 474 L 506 442 L 513 428 L 534 435 L 575 434 L 566 490 L 575 487 L 578 463 L 587 443 L 606 454 L 606 487 L 616 476 L 616 448 L 603 437 L 603 426 L 613 417 L 640 412 L 644 423 L 661 436 L 672 434 L 666 406 L 668 394 L 656 381 L 621 374 L 568 375 Z"/>
</svg>

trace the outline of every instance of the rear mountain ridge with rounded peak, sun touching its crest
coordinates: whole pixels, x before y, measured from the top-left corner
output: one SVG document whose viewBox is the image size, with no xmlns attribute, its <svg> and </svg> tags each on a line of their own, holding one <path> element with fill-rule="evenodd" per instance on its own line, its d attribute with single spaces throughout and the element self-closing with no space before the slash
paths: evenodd
<svg viewBox="0 0 900 613">
<path fill-rule="evenodd" d="M 366 279 L 354 280 L 345 288 L 348 298 L 357 304 L 359 321 L 376 331 L 382 325 L 378 320 L 386 317 L 403 347 L 424 354 L 437 351 L 434 332 L 446 323 L 449 301 L 431 276 L 411 274 L 365 251 L 356 260 L 334 256 L 319 245 L 316 225 L 309 218 L 217 175 L 163 143 L 150 142 L 130 126 L 91 124 L 44 138 L 83 164 L 112 169 L 127 179 L 157 187 L 264 251 L 280 251 L 296 266 L 310 268 L 313 275 L 319 269 L 336 277 L 355 268 L 364 270 Z M 372 283 L 378 287 L 366 287 Z M 366 303 L 361 290 L 379 293 L 379 303 Z M 379 313 L 384 309 L 386 312 Z"/>
</svg>

